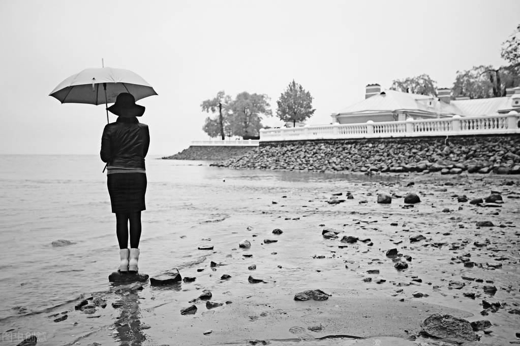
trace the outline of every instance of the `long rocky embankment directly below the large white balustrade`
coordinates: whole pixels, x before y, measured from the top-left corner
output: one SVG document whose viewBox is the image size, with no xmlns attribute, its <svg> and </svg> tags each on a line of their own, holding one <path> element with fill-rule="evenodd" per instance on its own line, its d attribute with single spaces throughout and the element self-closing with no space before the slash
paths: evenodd
<svg viewBox="0 0 520 346">
<path fill-rule="evenodd" d="M 218 167 L 318 172 L 520 173 L 520 136 L 270 142 Z"/>
</svg>

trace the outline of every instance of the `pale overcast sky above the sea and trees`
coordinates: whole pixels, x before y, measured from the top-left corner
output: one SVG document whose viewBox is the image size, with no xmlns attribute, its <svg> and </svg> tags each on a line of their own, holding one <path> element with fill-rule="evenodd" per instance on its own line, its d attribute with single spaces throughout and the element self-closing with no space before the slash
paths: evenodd
<svg viewBox="0 0 520 346">
<path fill-rule="evenodd" d="M 208 139 L 200 103 L 219 90 L 265 93 L 276 114 L 294 79 L 314 97 L 308 123 L 329 123 L 370 83 L 426 73 L 451 87 L 458 70 L 504 65 L 519 14 L 518 0 L 0 0 L 0 153 L 98 154 L 105 107 L 48 94 L 101 58 L 158 92 L 140 121 L 150 154 L 172 155 Z"/>
</svg>

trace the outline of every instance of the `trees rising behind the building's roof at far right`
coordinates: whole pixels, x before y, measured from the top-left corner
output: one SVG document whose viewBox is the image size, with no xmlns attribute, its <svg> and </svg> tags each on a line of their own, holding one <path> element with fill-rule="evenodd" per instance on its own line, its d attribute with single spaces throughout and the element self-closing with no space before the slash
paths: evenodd
<svg viewBox="0 0 520 346">
<path fill-rule="evenodd" d="M 500 52 L 506 65 L 498 68 L 492 65 L 473 66 L 470 70 L 457 71 L 451 88 L 451 98 L 467 96 L 470 99 L 485 99 L 505 96 L 506 89 L 520 86 L 520 24 L 503 43 Z M 396 79 L 391 90 L 414 94 L 437 96 L 436 81 L 429 75 Z"/>
</svg>

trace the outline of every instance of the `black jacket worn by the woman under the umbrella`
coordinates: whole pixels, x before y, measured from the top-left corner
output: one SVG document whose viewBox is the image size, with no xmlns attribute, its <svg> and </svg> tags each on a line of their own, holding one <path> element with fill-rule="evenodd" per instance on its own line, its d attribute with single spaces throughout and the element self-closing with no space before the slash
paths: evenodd
<svg viewBox="0 0 520 346">
<path fill-rule="evenodd" d="M 140 123 L 135 117 L 119 117 L 103 130 L 100 156 L 111 166 L 144 170 L 149 146 L 147 124 Z"/>
</svg>

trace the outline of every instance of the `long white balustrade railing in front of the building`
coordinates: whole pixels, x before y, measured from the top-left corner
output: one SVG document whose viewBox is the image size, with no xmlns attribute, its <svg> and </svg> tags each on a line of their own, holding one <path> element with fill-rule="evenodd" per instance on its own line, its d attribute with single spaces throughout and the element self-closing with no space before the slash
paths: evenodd
<svg viewBox="0 0 520 346">
<path fill-rule="evenodd" d="M 260 142 L 520 133 L 518 114 L 261 129 Z"/>
</svg>

